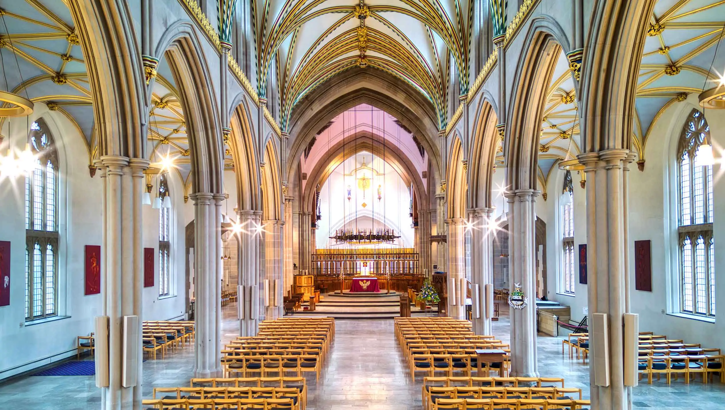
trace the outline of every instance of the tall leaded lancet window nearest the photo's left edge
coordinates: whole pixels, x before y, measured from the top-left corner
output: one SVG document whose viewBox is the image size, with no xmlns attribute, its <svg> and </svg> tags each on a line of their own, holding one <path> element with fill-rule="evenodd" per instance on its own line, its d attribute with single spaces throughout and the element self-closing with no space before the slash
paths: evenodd
<svg viewBox="0 0 725 410">
<path fill-rule="evenodd" d="M 58 155 L 43 120 L 30 125 L 36 166 L 25 178 L 25 320 L 58 314 Z"/>
</svg>

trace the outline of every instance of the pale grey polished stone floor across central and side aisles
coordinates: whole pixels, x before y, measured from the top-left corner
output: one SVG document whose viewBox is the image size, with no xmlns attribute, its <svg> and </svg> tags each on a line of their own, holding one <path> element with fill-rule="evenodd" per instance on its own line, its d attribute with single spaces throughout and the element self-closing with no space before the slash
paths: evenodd
<svg viewBox="0 0 725 410">
<path fill-rule="evenodd" d="M 225 307 L 223 340 L 236 337 L 236 306 Z M 508 312 L 494 322 L 494 335 L 508 341 Z M 578 387 L 589 396 L 589 366 L 561 354 L 561 338 L 538 338 L 539 372 L 563 376 L 568 387 Z M 163 360 L 144 362 L 144 396 L 154 387 L 188 385 L 193 370 L 193 348 L 178 350 Z M 310 380 L 310 377 L 308 377 Z M 394 338 L 393 320 L 336 321 L 336 334 L 320 380 L 308 382 L 307 409 L 421 410 L 421 375 L 410 379 L 402 351 Z M 724 409 L 725 385 L 716 382 L 655 380 L 639 385 L 632 396 L 634 408 L 652 410 Z M 15 377 L 0 382 L 2 409 L 97 409 L 100 392 L 91 376 Z"/>
</svg>

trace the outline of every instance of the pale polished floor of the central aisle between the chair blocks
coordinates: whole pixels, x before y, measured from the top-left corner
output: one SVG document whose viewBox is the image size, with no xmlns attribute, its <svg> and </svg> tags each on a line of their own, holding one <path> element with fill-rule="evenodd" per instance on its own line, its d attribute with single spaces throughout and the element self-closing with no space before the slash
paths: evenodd
<svg viewBox="0 0 725 410">
<path fill-rule="evenodd" d="M 320 381 L 308 378 L 309 410 L 419 410 L 421 387 L 395 341 L 393 320 L 337 320 Z"/>
</svg>

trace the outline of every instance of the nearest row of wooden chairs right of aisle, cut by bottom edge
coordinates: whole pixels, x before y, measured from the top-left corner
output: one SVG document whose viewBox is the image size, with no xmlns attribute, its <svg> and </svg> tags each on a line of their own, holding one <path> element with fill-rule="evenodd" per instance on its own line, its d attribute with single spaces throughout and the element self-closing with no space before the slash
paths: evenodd
<svg viewBox="0 0 725 410">
<path fill-rule="evenodd" d="M 433 410 L 579 410 L 588 409 L 589 400 L 556 400 L 556 399 L 491 399 L 491 398 L 448 398 L 441 399 L 433 405 Z"/>
</svg>

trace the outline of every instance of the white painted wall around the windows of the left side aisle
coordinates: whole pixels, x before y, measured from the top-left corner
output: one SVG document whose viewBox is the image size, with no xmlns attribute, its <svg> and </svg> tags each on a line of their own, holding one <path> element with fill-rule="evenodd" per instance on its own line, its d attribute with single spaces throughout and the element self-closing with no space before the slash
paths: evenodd
<svg viewBox="0 0 725 410">
<path fill-rule="evenodd" d="M 85 245 L 101 244 L 102 182 L 99 176 L 91 178 L 88 173 L 88 150 L 77 128 L 59 112 L 51 112 L 44 104 L 36 103 L 30 121 L 41 117 L 51 128 L 59 149 L 59 316 L 67 317 L 25 324 L 25 180 L 1 178 L 0 240 L 11 242 L 11 292 L 10 306 L 0 307 L 0 379 L 75 355 L 76 337 L 90 334 L 92 319 L 101 309 L 101 295 L 83 295 L 83 262 Z M 11 121 L 14 148 L 25 147 L 27 125 L 25 118 Z M 5 136 L 7 125 L 3 131 Z M 6 152 L 7 139 L 1 149 Z M 183 204 L 183 194 L 177 179 L 172 179 L 171 189 L 174 209 L 178 209 Z M 173 235 L 179 244 L 172 245 L 178 296 L 159 300 L 156 279 L 156 286 L 144 289 L 143 319 L 164 320 L 183 314 L 183 226 L 186 222 L 186 218 L 175 218 L 173 226 Z M 144 247 L 158 250 L 158 211 L 147 206 L 144 207 L 143 243 Z"/>
</svg>

